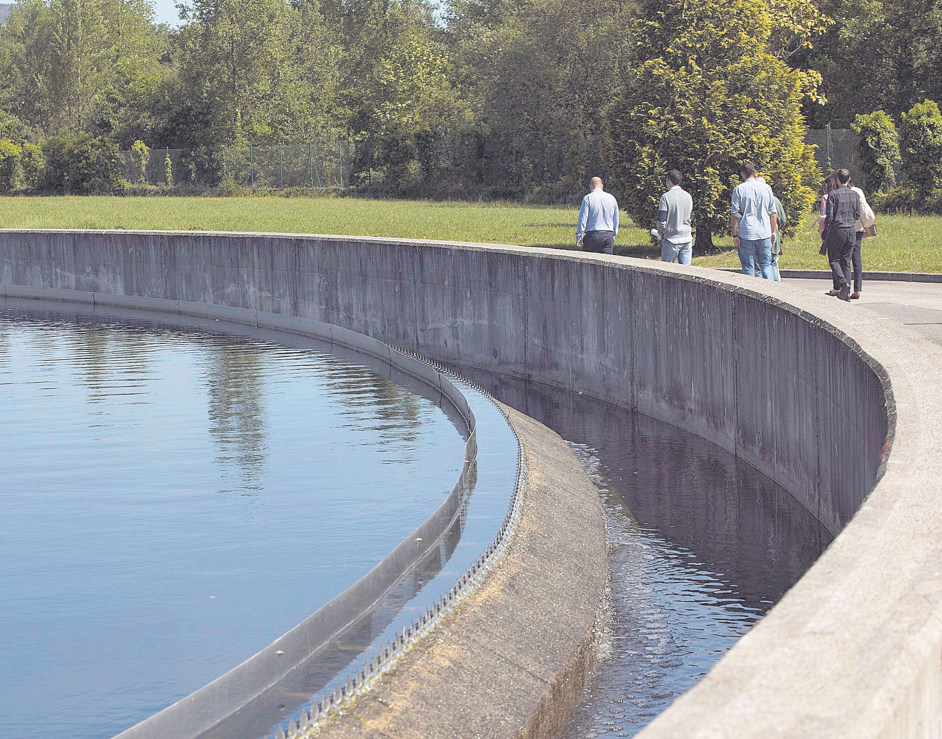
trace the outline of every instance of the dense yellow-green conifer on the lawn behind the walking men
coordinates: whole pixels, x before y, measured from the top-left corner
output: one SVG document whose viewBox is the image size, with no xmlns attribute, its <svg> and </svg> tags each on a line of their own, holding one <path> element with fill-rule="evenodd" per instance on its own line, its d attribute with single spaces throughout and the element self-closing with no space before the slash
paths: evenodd
<svg viewBox="0 0 942 739">
<path fill-rule="evenodd" d="M 704 253 L 727 227 L 739 163 L 750 159 L 793 232 L 820 173 L 804 143 L 803 79 L 769 51 L 767 5 L 643 0 L 628 33 L 638 58 L 608 121 L 609 166 L 629 215 L 651 221 L 665 173 L 680 169 L 693 197 L 694 248 Z"/>
</svg>

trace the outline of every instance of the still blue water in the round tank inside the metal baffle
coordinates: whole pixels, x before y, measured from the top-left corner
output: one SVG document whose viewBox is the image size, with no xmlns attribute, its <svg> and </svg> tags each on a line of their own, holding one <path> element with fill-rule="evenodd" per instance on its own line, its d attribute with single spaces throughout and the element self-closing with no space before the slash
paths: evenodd
<svg viewBox="0 0 942 739">
<path fill-rule="evenodd" d="M 0 736 L 122 731 L 441 504 L 453 411 L 295 343 L 0 302 Z"/>
</svg>

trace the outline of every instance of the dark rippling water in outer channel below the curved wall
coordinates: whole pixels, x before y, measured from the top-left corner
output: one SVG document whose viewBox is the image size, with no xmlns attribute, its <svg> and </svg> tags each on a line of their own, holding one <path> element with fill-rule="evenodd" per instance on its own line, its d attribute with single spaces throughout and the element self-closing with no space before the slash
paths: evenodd
<svg viewBox="0 0 942 739">
<path fill-rule="evenodd" d="M 558 739 L 641 731 L 831 540 L 787 490 L 682 429 L 587 395 L 463 372 L 560 433 L 602 496 L 609 622 Z"/>
</svg>

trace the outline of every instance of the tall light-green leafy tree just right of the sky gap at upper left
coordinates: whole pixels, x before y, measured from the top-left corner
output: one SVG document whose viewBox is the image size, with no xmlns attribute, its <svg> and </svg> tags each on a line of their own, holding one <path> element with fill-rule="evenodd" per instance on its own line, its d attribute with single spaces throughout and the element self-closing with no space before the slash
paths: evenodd
<svg viewBox="0 0 942 739">
<path fill-rule="evenodd" d="M 311 140 L 331 127 L 336 56 L 317 8 L 285 0 L 177 4 L 176 140 L 225 145 Z"/>
</svg>

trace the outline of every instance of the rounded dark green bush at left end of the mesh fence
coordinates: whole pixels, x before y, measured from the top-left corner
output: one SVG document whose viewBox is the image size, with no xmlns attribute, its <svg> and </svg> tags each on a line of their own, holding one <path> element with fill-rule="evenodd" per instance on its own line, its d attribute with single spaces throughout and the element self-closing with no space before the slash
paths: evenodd
<svg viewBox="0 0 942 739">
<path fill-rule="evenodd" d="M 49 138 L 42 153 L 46 163 L 40 188 L 44 192 L 92 195 L 121 189 L 121 158 L 113 141 L 88 134 Z"/>
</svg>

